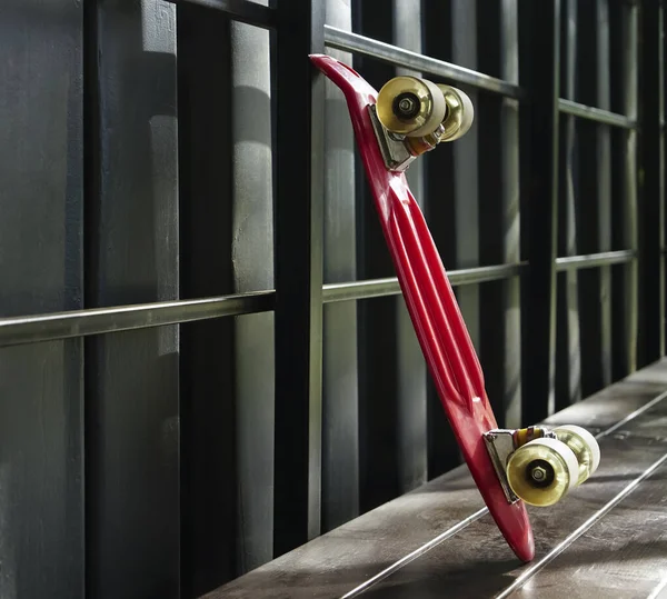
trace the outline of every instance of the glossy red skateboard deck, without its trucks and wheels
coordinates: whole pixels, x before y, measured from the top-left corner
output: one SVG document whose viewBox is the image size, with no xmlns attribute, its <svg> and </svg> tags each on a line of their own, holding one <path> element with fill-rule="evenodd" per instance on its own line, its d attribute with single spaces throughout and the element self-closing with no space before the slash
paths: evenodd
<svg viewBox="0 0 667 599">
<path fill-rule="evenodd" d="M 485 380 L 440 254 L 402 171 L 386 166 L 369 108 L 378 92 L 349 66 L 327 54 L 312 63 L 345 94 L 387 247 L 455 438 L 489 512 L 515 555 L 535 556 L 526 505 L 509 502 L 484 433 L 497 428 Z"/>
</svg>

